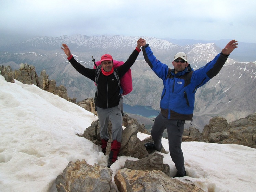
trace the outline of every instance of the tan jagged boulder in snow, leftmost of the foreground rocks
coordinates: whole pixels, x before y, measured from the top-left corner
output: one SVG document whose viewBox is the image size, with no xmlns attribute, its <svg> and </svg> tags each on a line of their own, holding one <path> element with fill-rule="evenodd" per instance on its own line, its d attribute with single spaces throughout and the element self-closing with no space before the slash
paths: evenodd
<svg viewBox="0 0 256 192">
<path fill-rule="evenodd" d="M 58 192 L 109 192 L 112 174 L 112 170 L 105 166 L 77 160 L 69 162 L 55 184 Z"/>
</svg>

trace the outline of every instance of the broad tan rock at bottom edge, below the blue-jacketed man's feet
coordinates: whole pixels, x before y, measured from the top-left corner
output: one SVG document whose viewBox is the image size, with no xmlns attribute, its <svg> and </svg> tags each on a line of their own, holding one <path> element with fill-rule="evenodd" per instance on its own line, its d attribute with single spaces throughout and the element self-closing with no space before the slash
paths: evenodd
<svg viewBox="0 0 256 192">
<path fill-rule="evenodd" d="M 204 192 L 194 184 L 172 179 L 159 170 L 120 169 L 114 176 L 114 181 L 121 192 Z"/>
</svg>

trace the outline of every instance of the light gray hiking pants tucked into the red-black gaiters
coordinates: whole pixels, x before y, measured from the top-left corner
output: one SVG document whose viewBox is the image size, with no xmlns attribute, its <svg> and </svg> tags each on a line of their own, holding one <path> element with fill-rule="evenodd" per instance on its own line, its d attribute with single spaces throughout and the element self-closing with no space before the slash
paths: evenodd
<svg viewBox="0 0 256 192">
<path fill-rule="evenodd" d="M 112 141 L 117 140 L 118 142 L 121 142 L 123 116 L 120 108 L 118 108 L 118 106 L 107 109 L 97 107 L 97 114 L 100 122 L 101 139 L 110 139 L 108 135 L 108 120 L 110 120 L 112 124 Z"/>
</svg>

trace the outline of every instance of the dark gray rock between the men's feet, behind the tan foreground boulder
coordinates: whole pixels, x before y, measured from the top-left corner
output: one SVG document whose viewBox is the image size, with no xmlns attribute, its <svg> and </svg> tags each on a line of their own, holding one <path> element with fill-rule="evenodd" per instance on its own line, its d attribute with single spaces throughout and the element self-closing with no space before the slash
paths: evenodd
<svg viewBox="0 0 256 192">
<path fill-rule="evenodd" d="M 160 170 L 170 176 L 170 166 L 163 164 L 164 156 L 158 153 L 152 153 L 148 157 L 138 161 L 126 160 L 124 168 L 131 170 L 152 171 Z"/>
</svg>

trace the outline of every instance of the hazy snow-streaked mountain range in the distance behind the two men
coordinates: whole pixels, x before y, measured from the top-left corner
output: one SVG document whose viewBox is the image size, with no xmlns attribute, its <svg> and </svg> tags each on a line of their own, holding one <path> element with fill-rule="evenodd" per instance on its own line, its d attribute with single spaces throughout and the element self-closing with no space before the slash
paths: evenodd
<svg viewBox="0 0 256 192">
<path fill-rule="evenodd" d="M 153 37 L 130 36 L 61 36 L 34 37 L 15 44 L 0 46 L 0 64 L 18 69 L 21 63 L 34 65 L 38 75 L 46 70 L 49 79 L 57 85 L 64 85 L 68 96 L 77 101 L 94 97 L 94 82 L 80 75 L 68 62 L 61 50 L 62 43 L 71 49 L 75 59 L 88 68 L 93 67 L 92 56 L 99 60 L 103 54 L 111 54 L 115 60 L 126 61 L 136 47 L 139 38 L 146 39 L 154 55 L 169 64 L 175 53 L 186 52 L 191 67 L 197 69 L 211 61 L 229 40 L 218 42 L 188 42 L 162 40 Z M 199 130 L 208 124 L 213 116 L 221 115 L 227 121 L 244 118 L 256 111 L 256 55 L 255 43 L 240 43 L 220 73 L 197 90 L 193 125 Z M 254 52 L 254 54 L 252 54 Z M 159 109 L 163 85 L 140 53 L 132 66 L 133 91 L 124 102 L 129 105 L 152 106 Z M 187 123 L 188 126 L 189 122 Z"/>
</svg>

